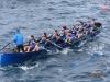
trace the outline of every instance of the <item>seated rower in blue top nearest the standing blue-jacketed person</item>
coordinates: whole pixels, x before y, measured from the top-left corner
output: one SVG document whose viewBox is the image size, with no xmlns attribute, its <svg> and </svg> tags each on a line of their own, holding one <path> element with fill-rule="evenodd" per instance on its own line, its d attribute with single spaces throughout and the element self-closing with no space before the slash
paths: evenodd
<svg viewBox="0 0 110 82">
<path fill-rule="evenodd" d="M 28 51 L 28 52 L 31 51 L 31 50 L 33 50 L 35 48 L 35 42 L 36 40 L 34 38 L 34 36 L 31 35 L 28 45 L 24 47 L 24 50 Z"/>
</svg>

